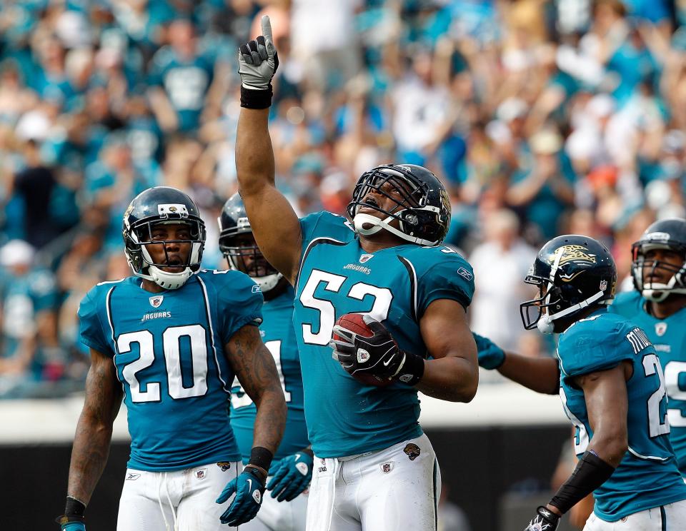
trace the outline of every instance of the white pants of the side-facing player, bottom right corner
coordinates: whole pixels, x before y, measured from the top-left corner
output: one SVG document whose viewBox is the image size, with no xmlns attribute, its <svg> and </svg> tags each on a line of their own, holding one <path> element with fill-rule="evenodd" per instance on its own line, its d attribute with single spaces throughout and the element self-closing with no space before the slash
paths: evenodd
<svg viewBox="0 0 686 531">
<path fill-rule="evenodd" d="M 686 530 L 686 500 L 635 512 L 617 522 L 600 520 L 591 513 L 583 531 L 682 531 Z"/>
</svg>

